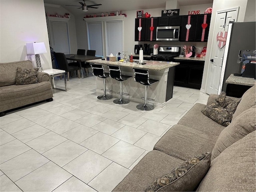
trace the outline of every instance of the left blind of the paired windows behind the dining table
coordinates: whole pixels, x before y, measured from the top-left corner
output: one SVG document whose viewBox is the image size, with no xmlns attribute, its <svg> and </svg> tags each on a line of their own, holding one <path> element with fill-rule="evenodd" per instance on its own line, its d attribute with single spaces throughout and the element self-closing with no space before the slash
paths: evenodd
<svg viewBox="0 0 256 192">
<path fill-rule="evenodd" d="M 103 57 L 102 26 L 101 22 L 88 23 L 88 38 L 90 50 L 96 50 L 95 56 Z"/>
</svg>

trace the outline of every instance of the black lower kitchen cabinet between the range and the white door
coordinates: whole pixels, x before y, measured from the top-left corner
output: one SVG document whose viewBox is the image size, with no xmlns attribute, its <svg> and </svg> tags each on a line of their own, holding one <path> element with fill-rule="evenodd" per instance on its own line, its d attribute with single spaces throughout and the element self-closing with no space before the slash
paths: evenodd
<svg viewBox="0 0 256 192">
<path fill-rule="evenodd" d="M 202 85 L 204 61 L 175 61 L 180 62 L 180 64 L 175 68 L 174 85 L 200 89 Z"/>
</svg>

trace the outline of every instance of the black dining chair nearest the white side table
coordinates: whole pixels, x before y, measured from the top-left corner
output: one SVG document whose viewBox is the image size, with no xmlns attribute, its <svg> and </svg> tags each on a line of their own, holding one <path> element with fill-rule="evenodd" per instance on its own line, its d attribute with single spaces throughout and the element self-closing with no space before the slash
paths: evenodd
<svg viewBox="0 0 256 192">
<path fill-rule="evenodd" d="M 80 68 L 76 66 L 68 66 L 68 61 L 64 53 L 54 53 L 54 56 L 58 62 L 59 69 L 65 70 L 68 74 L 69 80 L 69 72 L 77 71 L 77 76 L 80 78 Z"/>
</svg>

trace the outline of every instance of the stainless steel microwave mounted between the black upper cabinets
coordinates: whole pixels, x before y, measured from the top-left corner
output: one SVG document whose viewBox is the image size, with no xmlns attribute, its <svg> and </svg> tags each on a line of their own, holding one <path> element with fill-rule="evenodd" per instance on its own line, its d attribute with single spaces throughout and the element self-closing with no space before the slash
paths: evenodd
<svg viewBox="0 0 256 192">
<path fill-rule="evenodd" d="M 178 41 L 180 36 L 180 26 L 166 26 L 156 28 L 157 41 Z"/>
</svg>

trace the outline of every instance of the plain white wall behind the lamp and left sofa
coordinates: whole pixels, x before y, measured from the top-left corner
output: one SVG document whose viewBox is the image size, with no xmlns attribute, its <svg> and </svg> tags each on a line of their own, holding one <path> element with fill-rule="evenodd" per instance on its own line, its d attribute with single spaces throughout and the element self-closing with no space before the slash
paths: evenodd
<svg viewBox="0 0 256 192">
<path fill-rule="evenodd" d="M 52 68 L 43 0 L 0 0 L 0 62 L 27 60 L 26 43 L 44 42 L 44 69 Z"/>
</svg>

